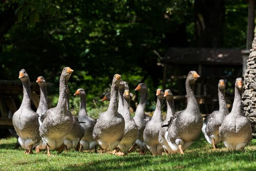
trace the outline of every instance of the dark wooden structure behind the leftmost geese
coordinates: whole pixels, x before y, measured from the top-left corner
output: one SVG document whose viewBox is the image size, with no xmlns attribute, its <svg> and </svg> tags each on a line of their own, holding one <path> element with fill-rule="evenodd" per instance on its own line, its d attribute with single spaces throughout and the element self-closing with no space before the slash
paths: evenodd
<svg viewBox="0 0 256 171">
<path fill-rule="evenodd" d="M 0 128 L 13 128 L 12 119 L 8 118 L 8 113 L 12 114 L 17 111 L 17 105 L 20 105 L 20 98 L 22 98 L 23 86 L 20 81 L 0 80 Z M 38 107 L 40 94 L 39 86 L 36 82 L 31 82 L 31 100 L 32 107 Z"/>
</svg>

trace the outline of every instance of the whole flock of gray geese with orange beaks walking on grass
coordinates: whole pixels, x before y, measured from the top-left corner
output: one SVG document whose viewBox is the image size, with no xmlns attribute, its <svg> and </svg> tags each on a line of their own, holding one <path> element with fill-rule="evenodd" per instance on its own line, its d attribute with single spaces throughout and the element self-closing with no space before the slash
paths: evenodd
<svg viewBox="0 0 256 171">
<path fill-rule="evenodd" d="M 68 81 L 73 73 L 69 67 L 62 70 L 59 80 L 59 98 L 54 108 L 48 109 L 47 86 L 44 77 L 39 76 L 36 82 L 40 88 L 38 109 L 31 109 L 30 80 L 25 69 L 19 71 L 23 83 L 23 100 L 19 109 L 13 114 L 13 126 L 18 135 L 18 142 L 26 149 L 25 154 L 56 149 L 58 153 L 69 149 L 93 150 L 96 145 L 102 150 L 115 155 L 126 155 L 137 144 L 140 154 L 150 151 L 152 155 L 180 153 L 184 154 L 201 131 L 207 142 L 216 148 L 223 141 L 232 150 L 243 149 L 251 140 L 251 125 L 241 111 L 243 90 L 242 78 L 235 83 L 234 101 L 229 113 L 225 101 L 225 82 L 218 84 L 219 111 L 214 111 L 203 120 L 197 100 L 194 96 L 194 85 L 200 77 L 196 71 L 187 75 L 185 88 L 187 106 L 183 111 L 175 111 L 174 98 L 169 89 L 157 89 L 156 109 L 152 117 L 145 115 L 147 87 L 139 83 L 135 91 L 140 92 L 140 102 L 135 116 L 130 114 L 130 92 L 127 82 L 121 75 L 115 74 L 112 80 L 108 109 L 99 114 L 97 120 L 87 114 L 86 92 L 77 89 L 75 96 L 80 96 L 80 109 L 77 116 L 69 111 Z M 166 99 L 166 119 L 162 118 L 163 100 Z"/>
</svg>

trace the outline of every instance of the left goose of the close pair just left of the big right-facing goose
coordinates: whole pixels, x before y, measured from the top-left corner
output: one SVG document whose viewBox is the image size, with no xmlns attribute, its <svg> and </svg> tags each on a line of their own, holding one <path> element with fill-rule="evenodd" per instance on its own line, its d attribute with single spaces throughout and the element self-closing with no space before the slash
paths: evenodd
<svg viewBox="0 0 256 171">
<path fill-rule="evenodd" d="M 158 141 L 159 132 L 162 126 L 162 104 L 163 104 L 163 91 L 162 89 L 157 89 L 157 104 L 154 114 L 150 121 L 147 122 L 143 138 L 147 149 L 150 150 L 153 156 L 160 155 L 163 152 L 163 147 Z"/>
</svg>

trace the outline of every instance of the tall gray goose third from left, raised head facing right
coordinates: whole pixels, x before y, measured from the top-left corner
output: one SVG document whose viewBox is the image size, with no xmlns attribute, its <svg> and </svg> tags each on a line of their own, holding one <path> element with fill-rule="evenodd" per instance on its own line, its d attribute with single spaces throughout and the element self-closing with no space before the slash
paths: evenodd
<svg viewBox="0 0 256 171">
<path fill-rule="evenodd" d="M 50 150 L 57 149 L 59 153 L 65 148 L 64 137 L 72 130 L 73 116 L 67 109 L 68 81 L 73 73 L 70 67 L 63 68 L 59 79 L 59 98 L 55 108 L 48 109 L 41 116 L 40 136 L 47 144 L 47 155 Z"/>
</svg>

